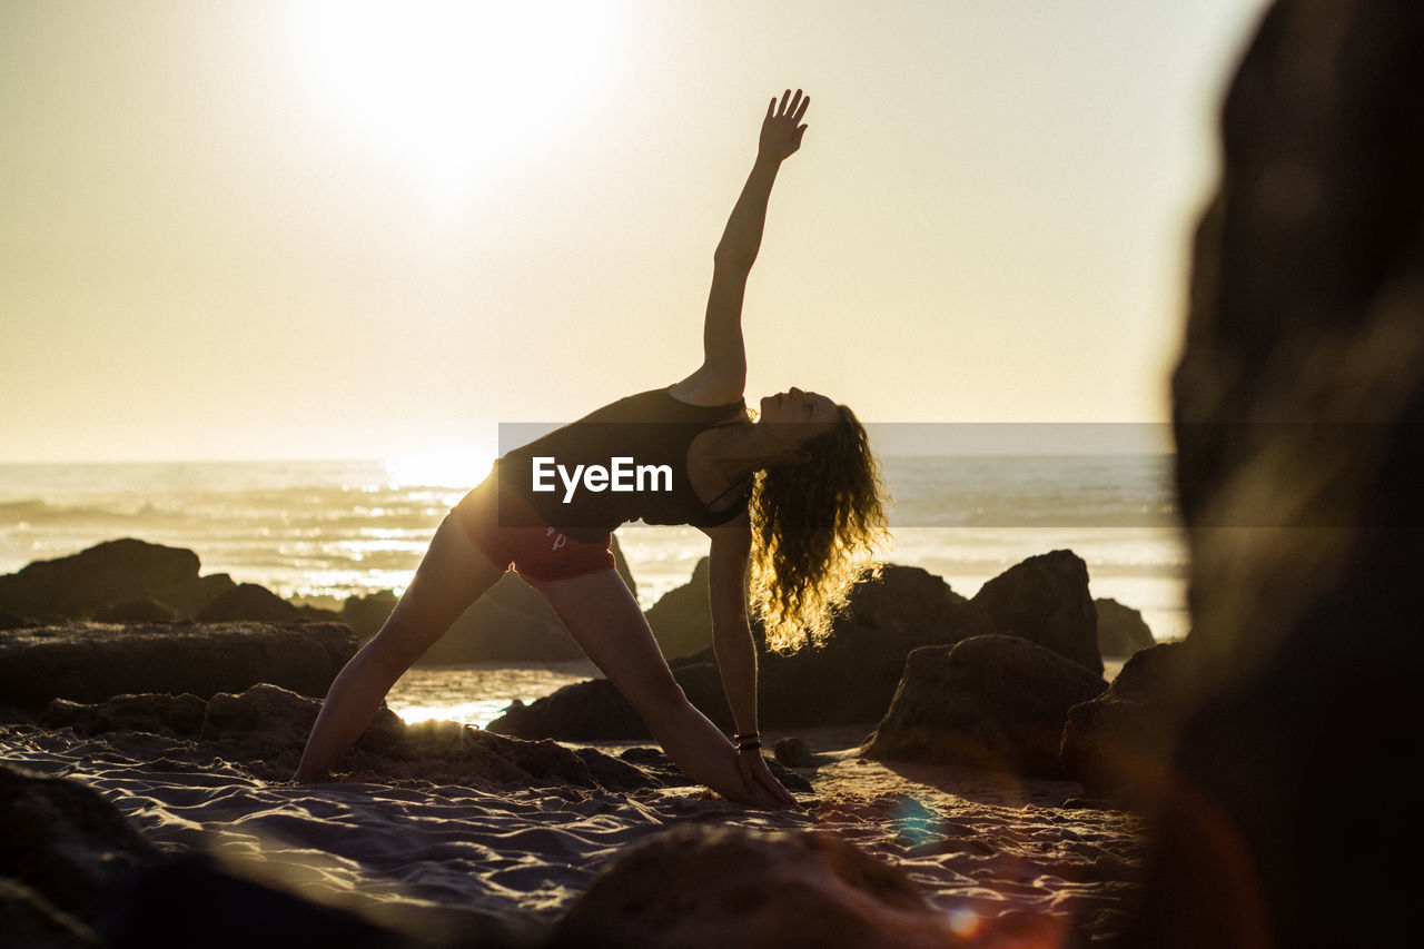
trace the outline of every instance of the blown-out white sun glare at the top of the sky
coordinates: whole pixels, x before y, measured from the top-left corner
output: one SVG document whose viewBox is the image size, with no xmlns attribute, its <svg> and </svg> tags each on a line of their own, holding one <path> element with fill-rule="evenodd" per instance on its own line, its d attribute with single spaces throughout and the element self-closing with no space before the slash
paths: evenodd
<svg viewBox="0 0 1424 949">
<path fill-rule="evenodd" d="M 437 192 L 527 157 L 607 87 L 615 7 L 574 0 L 293 4 L 318 114 Z"/>
</svg>

